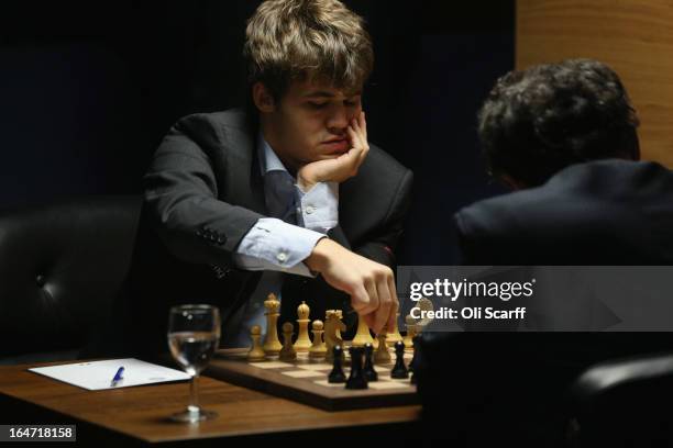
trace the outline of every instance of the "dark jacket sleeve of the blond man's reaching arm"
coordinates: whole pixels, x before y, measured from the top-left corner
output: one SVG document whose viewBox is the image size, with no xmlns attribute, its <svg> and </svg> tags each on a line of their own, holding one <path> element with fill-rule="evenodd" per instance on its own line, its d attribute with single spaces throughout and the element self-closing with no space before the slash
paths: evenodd
<svg viewBox="0 0 673 448">
<path fill-rule="evenodd" d="M 264 217 L 218 200 L 213 158 L 225 163 L 222 128 L 207 114 L 178 121 L 164 137 L 144 177 L 145 206 L 176 257 L 234 267 L 236 246 Z M 218 167 L 223 171 L 223 167 Z"/>
</svg>

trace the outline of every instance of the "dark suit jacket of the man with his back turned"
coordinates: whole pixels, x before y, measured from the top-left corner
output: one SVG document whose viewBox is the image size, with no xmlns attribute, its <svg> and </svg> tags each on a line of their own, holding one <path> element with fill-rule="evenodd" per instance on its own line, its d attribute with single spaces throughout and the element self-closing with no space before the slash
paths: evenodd
<svg viewBox="0 0 673 448">
<path fill-rule="evenodd" d="M 670 265 L 673 173 L 648 161 L 575 165 L 455 220 L 465 265 Z M 565 446 L 565 391 L 577 374 L 672 347 L 660 333 L 426 335 L 417 369 L 424 434 L 465 447 Z M 450 432 L 432 432 L 445 422 Z"/>
</svg>

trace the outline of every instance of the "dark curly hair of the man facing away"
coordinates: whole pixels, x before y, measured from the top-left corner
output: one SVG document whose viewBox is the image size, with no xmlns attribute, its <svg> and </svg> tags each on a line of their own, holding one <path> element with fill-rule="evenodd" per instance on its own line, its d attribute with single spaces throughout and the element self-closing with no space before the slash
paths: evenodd
<svg viewBox="0 0 673 448">
<path fill-rule="evenodd" d="M 528 187 L 573 164 L 639 159 L 638 125 L 617 74 L 592 59 L 510 71 L 478 112 L 492 175 Z"/>
</svg>

